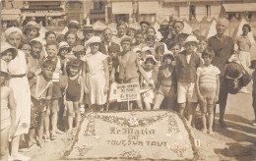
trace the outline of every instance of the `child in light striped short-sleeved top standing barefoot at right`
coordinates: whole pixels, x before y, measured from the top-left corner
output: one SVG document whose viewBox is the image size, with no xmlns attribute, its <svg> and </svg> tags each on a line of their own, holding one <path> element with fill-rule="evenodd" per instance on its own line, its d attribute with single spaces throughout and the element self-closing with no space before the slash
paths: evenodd
<svg viewBox="0 0 256 161">
<path fill-rule="evenodd" d="M 220 92 L 220 70 L 212 65 L 215 52 L 212 48 L 207 47 L 203 53 L 204 65 L 197 69 L 196 88 L 202 113 L 202 132 L 213 134 L 214 123 L 214 106 L 219 100 Z"/>
</svg>

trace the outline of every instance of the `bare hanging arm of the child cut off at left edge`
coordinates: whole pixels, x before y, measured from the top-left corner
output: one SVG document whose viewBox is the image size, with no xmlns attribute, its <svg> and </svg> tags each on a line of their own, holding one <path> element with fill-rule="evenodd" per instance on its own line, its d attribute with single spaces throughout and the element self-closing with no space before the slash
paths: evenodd
<svg viewBox="0 0 256 161">
<path fill-rule="evenodd" d="M 9 131 L 9 137 L 13 137 L 15 134 L 16 129 L 16 104 L 14 100 L 14 91 L 12 88 L 9 88 L 9 95 L 8 95 L 8 102 L 9 102 L 9 108 L 10 108 L 10 115 L 11 115 L 11 128 Z"/>
</svg>

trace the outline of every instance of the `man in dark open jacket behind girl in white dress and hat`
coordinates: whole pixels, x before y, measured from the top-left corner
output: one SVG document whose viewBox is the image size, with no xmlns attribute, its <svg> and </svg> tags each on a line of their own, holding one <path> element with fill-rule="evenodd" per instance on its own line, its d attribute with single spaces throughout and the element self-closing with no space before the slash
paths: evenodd
<svg viewBox="0 0 256 161">
<path fill-rule="evenodd" d="M 112 41 L 112 30 L 110 28 L 105 28 L 103 30 L 103 40 L 99 44 L 99 51 L 105 55 L 109 55 L 109 47 L 117 48 L 117 53 L 120 52 L 120 46 Z"/>
</svg>

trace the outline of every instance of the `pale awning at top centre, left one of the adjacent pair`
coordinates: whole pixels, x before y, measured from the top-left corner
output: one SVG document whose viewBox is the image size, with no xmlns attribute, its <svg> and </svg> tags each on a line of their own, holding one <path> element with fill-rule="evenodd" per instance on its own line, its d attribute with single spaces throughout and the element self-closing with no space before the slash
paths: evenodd
<svg viewBox="0 0 256 161">
<path fill-rule="evenodd" d="M 112 14 L 132 14 L 132 2 L 112 2 Z"/>
</svg>

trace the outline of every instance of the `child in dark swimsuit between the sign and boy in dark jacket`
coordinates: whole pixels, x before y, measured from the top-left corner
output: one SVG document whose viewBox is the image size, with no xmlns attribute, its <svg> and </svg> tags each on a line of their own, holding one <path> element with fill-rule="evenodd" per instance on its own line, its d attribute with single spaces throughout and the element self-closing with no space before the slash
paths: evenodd
<svg viewBox="0 0 256 161">
<path fill-rule="evenodd" d="M 160 66 L 158 76 L 158 94 L 156 96 L 156 102 L 154 109 L 160 109 L 160 105 L 164 98 L 166 98 L 167 109 L 177 111 L 176 109 L 176 90 L 177 80 L 175 67 L 172 65 L 174 57 L 171 53 L 165 53 L 162 57 L 162 65 Z"/>
</svg>

